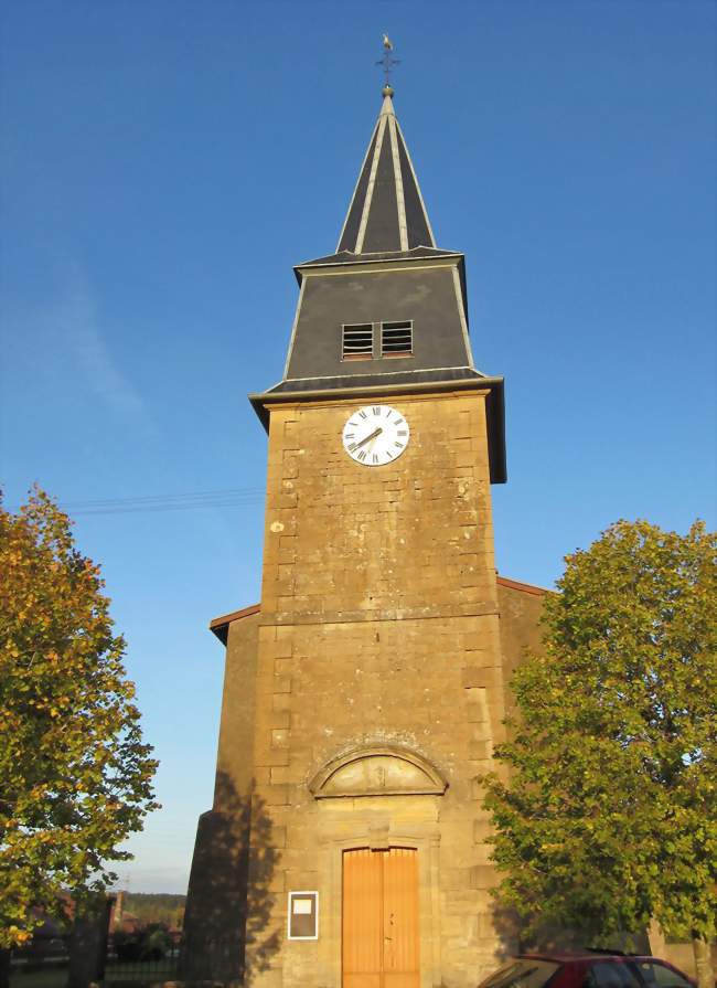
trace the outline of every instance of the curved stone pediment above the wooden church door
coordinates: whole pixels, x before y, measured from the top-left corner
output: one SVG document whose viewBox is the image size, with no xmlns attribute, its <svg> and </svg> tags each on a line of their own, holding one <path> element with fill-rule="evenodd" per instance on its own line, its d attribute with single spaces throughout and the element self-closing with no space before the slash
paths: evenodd
<svg viewBox="0 0 717 988">
<path fill-rule="evenodd" d="M 447 787 L 447 780 L 435 765 L 398 745 L 370 745 L 344 752 L 309 783 L 315 799 L 442 796 Z"/>
</svg>

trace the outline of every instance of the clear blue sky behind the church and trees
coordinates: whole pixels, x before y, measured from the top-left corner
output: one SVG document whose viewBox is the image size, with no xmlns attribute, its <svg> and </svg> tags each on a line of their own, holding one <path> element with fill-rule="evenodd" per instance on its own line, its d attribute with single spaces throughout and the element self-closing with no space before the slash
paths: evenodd
<svg viewBox="0 0 717 988">
<path fill-rule="evenodd" d="M 164 808 L 122 884 L 186 885 L 223 674 L 206 625 L 258 598 L 246 394 L 281 376 L 291 266 L 335 247 L 384 31 L 437 240 L 467 254 L 477 363 L 506 379 L 500 572 L 550 585 L 618 518 L 714 527 L 716 10 L 4 4 L 0 482 L 74 508 L 128 639 Z"/>
</svg>

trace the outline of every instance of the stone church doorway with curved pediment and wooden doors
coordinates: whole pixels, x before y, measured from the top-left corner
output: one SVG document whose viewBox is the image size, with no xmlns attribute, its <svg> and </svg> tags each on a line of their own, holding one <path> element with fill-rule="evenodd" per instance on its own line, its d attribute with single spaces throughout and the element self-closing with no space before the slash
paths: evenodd
<svg viewBox="0 0 717 988">
<path fill-rule="evenodd" d="M 440 982 L 440 803 L 448 782 L 425 755 L 366 744 L 310 780 L 325 875 L 327 985 Z M 323 982 L 322 982 L 323 984 Z"/>
</svg>

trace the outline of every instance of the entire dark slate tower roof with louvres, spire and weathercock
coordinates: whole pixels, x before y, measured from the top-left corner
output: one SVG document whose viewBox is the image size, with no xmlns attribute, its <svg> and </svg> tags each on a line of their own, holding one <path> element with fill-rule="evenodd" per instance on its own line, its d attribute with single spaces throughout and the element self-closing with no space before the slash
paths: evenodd
<svg viewBox="0 0 717 988">
<path fill-rule="evenodd" d="M 389 72 L 388 38 L 384 50 Z M 473 364 L 464 258 L 436 246 L 393 95 L 386 81 L 336 253 L 295 267 L 301 291 L 283 378 L 252 402 L 267 425 L 277 402 L 479 387 L 491 479 L 502 484 L 503 379 Z"/>
</svg>

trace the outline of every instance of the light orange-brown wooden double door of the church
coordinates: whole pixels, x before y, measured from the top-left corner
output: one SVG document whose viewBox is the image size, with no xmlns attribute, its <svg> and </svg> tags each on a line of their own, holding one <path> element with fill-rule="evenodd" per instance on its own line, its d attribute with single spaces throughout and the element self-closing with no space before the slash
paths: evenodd
<svg viewBox="0 0 717 988">
<path fill-rule="evenodd" d="M 419 988 L 418 852 L 343 853 L 343 988 Z"/>
</svg>

